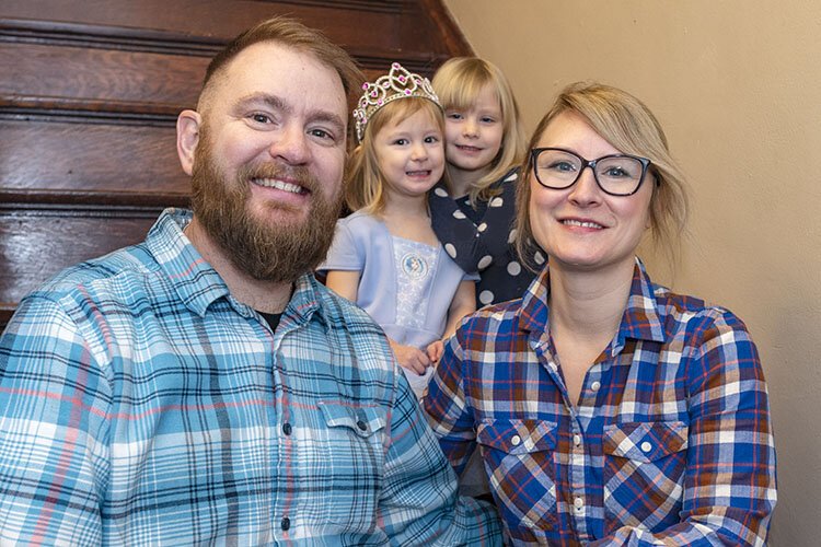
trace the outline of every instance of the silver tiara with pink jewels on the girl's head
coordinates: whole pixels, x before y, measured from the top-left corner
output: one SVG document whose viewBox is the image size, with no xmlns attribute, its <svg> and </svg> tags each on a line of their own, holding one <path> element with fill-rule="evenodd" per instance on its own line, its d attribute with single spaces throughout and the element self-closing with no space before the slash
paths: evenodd
<svg viewBox="0 0 821 547">
<path fill-rule="evenodd" d="M 365 137 L 365 127 L 368 120 L 391 101 L 405 97 L 423 97 L 439 106 L 439 97 L 430 85 L 427 78 L 408 72 L 402 65 L 394 62 L 391 65 L 391 71 L 381 75 L 375 82 L 366 82 L 362 84 L 362 97 L 359 100 L 359 106 L 354 108 L 354 119 L 357 121 L 357 140 L 362 142 Z"/>
</svg>

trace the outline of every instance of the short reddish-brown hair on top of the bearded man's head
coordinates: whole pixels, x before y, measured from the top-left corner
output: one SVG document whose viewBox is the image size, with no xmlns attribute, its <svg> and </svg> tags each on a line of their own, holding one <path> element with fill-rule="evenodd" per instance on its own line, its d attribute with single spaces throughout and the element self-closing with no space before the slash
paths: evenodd
<svg viewBox="0 0 821 547">
<path fill-rule="evenodd" d="M 331 42 L 320 31 L 310 28 L 293 19 L 282 16 L 275 16 L 257 23 L 232 39 L 211 59 L 203 81 L 203 90 L 199 94 L 200 102 L 213 77 L 223 70 L 243 49 L 261 42 L 275 42 L 298 51 L 313 55 L 339 74 L 348 98 L 348 105 L 352 107 L 356 103 L 365 77 L 350 55 Z"/>
</svg>

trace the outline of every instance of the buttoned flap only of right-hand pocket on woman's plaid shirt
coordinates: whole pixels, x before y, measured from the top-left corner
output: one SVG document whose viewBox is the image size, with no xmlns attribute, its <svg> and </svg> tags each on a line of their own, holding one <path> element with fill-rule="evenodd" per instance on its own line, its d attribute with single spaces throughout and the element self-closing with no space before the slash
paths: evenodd
<svg viewBox="0 0 821 547">
<path fill-rule="evenodd" d="M 604 453 L 652 462 L 687 447 L 683 421 L 611 423 L 604 428 Z"/>
</svg>

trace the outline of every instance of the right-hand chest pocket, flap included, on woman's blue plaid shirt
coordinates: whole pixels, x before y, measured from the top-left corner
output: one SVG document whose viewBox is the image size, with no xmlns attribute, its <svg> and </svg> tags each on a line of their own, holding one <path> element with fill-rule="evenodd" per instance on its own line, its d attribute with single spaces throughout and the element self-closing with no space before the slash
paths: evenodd
<svg viewBox="0 0 821 547">
<path fill-rule="evenodd" d="M 689 427 L 683 421 L 604 428 L 604 509 L 609 527 L 662 529 L 679 520 Z M 636 496 L 636 492 L 643 492 Z"/>
</svg>

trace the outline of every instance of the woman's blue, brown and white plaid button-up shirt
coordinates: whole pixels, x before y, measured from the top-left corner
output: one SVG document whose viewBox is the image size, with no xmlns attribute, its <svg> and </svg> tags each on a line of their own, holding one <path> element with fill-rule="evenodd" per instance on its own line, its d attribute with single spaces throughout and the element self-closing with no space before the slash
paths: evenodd
<svg viewBox="0 0 821 547">
<path fill-rule="evenodd" d="M 764 545 L 775 450 L 758 351 L 727 310 L 637 260 L 615 338 L 569 401 L 547 269 L 469 317 L 424 405 L 461 473 L 478 444 L 514 545 Z"/>
</svg>

